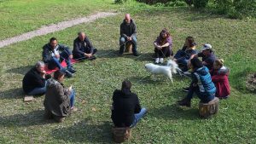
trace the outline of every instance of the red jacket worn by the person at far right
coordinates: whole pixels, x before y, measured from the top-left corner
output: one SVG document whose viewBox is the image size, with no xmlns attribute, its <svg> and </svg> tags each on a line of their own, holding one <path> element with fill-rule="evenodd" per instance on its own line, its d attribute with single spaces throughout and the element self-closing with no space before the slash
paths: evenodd
<svg viewBox="0 0 256 144">
<path fill-rule="evenodd" d="M 218 70 L 211 71 L 212 82 L 215 84 L 217 89 L 217 97 L 226 97 L 230 95 L 229 73 L 230 70 L 224 66 Z"/>
</svg>

